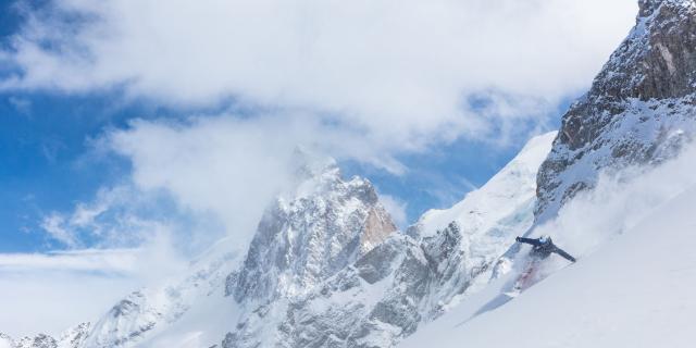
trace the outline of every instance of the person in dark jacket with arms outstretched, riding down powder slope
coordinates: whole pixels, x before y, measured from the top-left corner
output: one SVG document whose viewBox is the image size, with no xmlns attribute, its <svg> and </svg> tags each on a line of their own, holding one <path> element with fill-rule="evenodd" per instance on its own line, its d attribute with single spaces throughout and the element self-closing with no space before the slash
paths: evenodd
<svg viewBox="0 0 696 348">
<path fill-rule="evenodd" d="M 518 281 L 512 286 L 512 290 L 508 293 L 508 296 L 515 297 L 522 290 L 536 283 L 535 278 L 538 276 L 535 273 L 537 272 L 538 263 L 548 258 L 551 253 L 556 252 L 568 261 L 575 262 L 575 258 L 571 257 L 563 249 L 557 247 L 551 240 L 551 237 L 547 235 L 543 235 L 536 239 L 517 237 L 514 240 L 532 245 L 532 251 L 530 252 L 531 260 L 529 261 L 524 272 L 522 272 Z"/>
</svg>

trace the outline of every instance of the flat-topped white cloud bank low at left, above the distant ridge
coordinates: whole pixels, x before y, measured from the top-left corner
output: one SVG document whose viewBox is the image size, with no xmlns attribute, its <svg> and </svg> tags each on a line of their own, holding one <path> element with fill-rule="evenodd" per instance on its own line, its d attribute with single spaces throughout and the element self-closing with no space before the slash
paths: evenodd
<svg viewBox="0 0 696 348">
<path fill-rule="evenodd" d="M 161 246 L 48 254 L 0 253 L 0 332 L 59 335 L 96 321 L 124 295 L 181 272 Z M 147 266 L 144 266 L 147 264 Z"/>
</svg>

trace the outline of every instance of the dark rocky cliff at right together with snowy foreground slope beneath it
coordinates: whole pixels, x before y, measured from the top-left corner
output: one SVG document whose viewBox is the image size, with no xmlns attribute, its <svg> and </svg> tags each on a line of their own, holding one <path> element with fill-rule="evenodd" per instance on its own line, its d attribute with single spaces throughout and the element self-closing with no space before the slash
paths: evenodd
<svg viewBox="0 0 696 348">
<path fill-rule="evenodd" d="M 695 40 L 693 0 L 639 1 L 636 26 L 563 116 L 531 234 L 579 262 L 548 259 L 511 299 L 518 268 L 400 347 L 693 346 Z M 507 256 L 519 264 L 527 250 Z"/>
</svg>

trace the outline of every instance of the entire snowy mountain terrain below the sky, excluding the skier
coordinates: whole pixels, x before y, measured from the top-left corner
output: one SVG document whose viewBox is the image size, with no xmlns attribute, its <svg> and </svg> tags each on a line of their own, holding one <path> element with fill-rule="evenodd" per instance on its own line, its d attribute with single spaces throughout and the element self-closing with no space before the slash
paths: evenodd
<svg viewBox="0 0 696 348">
<path fill-rule="evenodd" d="M 696 156 L 674 159 L 696 132 L 696 3 L 639 4 L 636 26 L 560 130 L 530 140 L 452 208 L 398 232 L 369 181 L 298 151 L 294 182 L 245 252 L 222 240 L 181 278 L 128 295 L 92 325 L 60 339 L 0 335 L 0 347 L 394 347 L 413 334 L 402 346 L 527 347 L 539 344 L 539 325 L 552 331 L 542 346 L 659 346 L 671 320 L 672 346 L 688 341 L 696 304 L 679 282 L 696 269 L 687 247 L 696 181 L 674 173 L 691 173 Z M 607 184 L 636 166 L 643 175 L 631 178 L 643 182 Z M 502 298 L 527 250 L 514 236 L 540 232 L 580 262 L 550 261 L 551 276 Z"/>
</svg>

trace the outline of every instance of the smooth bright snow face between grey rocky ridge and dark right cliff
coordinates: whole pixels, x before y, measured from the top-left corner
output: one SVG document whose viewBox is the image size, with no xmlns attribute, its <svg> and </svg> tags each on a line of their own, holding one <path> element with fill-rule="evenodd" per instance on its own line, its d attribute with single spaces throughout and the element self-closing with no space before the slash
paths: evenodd
<svg viewBox="0 0 696 348">
<path fill-rule="evenodd" d="M 486 274 L 498 276 L 509 263 L 498 258 L 514 243 L 514 236 L 524 234 L 533 224 L 536 201 L 536 176 L 548 156 L 556 132 L 532 138 L 520 153 L 481 189 L 470 192 L 455 207 L 431 210 L 409 228 L 409 234 L 424 241 L 442 239 L 438 235 L 455 222 L 461 229 L 459 250 L 462 254 L 457 273 L 467 274 L 474 269 L 487 269 Z M 439 247 L 438 247 L 439 248 Z M 431 253 L 437 253 L 433 248 Z M 496 269 L 489 269 L 499 261 Z M 493 273 L 492 273 L 493 272 Z M 486 284 L 486 277 L 477 277 Z M 463 282 L 471 282 L 464 278 Z M 476 283 L 472 284 L 476 285 Z M 443 286 L 434 298 L 451 298 L 463 284 Z M 456 303 L 456 302 L 455 302 Z"/>
</svg>

